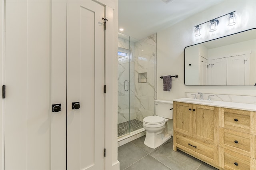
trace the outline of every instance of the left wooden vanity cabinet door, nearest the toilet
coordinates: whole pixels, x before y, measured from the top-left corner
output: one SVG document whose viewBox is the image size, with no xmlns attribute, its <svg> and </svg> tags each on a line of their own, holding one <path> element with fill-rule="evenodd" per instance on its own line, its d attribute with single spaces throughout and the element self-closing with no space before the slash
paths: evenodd
<svg viewBox="0 0 256 170">
<path fill-rule="evenodd" d="M 192 104 L 174 102 L 173 127 L 177 132 L 192 136 L 193 134 L 193 117 Z"/>
</svg>

